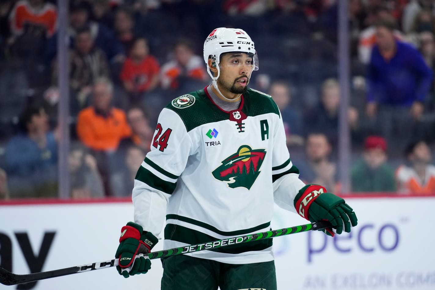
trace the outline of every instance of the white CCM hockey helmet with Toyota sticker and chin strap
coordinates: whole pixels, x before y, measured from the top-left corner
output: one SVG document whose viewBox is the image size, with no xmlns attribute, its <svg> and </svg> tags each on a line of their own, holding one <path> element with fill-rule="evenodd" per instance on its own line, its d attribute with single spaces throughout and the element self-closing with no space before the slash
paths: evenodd
<svg viewBox="0 0 435 290">
<path fill-rule="evenodd" d="M 213 79 L 213 85 L 216 87 L 216 80 L 219 78 L 219 61 L 221 54 L 226 52 L 244 52 L 252 54 L 253 70 L 258 70 L 258 58 L 255 51 L 254 41 L 242 29 L 219 27 L 211 31 L 204 41 L 204 61 L 207 65 L 207 72 Z M 212 59 L 218 69 L 218 75 L 214 77 L 208 67 L 208 60 Z"/>
</svg>

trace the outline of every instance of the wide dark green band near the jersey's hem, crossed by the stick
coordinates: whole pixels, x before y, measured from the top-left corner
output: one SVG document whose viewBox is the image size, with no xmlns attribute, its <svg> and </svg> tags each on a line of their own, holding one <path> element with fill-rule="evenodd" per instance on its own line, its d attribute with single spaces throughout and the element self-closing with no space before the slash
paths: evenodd
<svg viewBox="0 0 435 290">
<path fill-rule="evenodd" d="M 164 238 L 185 243 L 188 245 L 195 245 L 200 243 L 208 243 L 219 240 L 213 236 L 201 233 L 194 229 L 189 229 L 184 226 L 174 225 L 168 223 L 164 228 Z M 272 239 L 261 239 L 249 243 L 240 243 L 231 246 L 224 246 L 216 248 L 211 251 L 228 254 L 240 254 L 248 251 L 261 251 L 272 246 Z"/>
</svg>

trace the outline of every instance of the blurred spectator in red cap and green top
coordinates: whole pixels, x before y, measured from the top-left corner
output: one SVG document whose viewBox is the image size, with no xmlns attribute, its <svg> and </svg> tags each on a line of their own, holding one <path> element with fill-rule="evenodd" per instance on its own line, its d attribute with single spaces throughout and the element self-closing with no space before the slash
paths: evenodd
<svg viewBox="0 0 435 290">
<path fill-rule="evenodd" d="M 387 163 L 387 142 L 379 136 L 368 136 L 363 158 L 351 169 L 353 192 L 395 191 L 394 170 Z"/>
</svg>

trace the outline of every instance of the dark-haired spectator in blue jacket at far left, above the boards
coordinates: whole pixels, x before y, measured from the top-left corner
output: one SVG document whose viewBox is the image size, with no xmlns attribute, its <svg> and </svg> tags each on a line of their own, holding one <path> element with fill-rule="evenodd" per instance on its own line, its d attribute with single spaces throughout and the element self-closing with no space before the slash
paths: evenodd
<svg viewBox="0 0 435 290">
<path fill-rule="evenodd" d="M 30 105 L 22 115 L 25 131 L 6 146 L 6 172 L 11 198 L 57 196 L 57 142 L 48 115 L 40 105 Z"/>
</svg>

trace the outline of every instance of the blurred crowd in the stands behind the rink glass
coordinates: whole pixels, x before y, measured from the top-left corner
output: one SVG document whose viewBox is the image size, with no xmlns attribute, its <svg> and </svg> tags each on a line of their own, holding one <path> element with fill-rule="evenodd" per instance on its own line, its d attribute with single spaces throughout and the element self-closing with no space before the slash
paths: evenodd
<svg viewBox="0 0 435 290">
<path fill-rule="evenodd" d="M 351 192 L 435 194 L 434 2 L 348 1 Z M 254 40 L 249 86 L 280 108 L 300 178 L 340 193 L 337 7 L 70 0 L 70 197 L 131 195 L 158 113 L 210 83 L 202 48 L 216 27 Z M 58 196 L 58 21 L 56 1 L 0 2 L 0 199 Z"/>
</svg>

